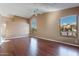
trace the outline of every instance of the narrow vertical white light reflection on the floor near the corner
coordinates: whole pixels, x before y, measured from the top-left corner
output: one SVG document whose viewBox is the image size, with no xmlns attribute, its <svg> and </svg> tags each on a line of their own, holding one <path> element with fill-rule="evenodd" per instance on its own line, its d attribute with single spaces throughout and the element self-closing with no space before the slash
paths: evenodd
<svg viewBox="0 0 79 59">
<path fill-rule="evenodd" d="M 30 41 L 30 54 L 37 55 L 37 50 L 38 50 L 37 47 L 38 47 L 37 39 L 31 38 L 31 41 Z"/>
</svg>

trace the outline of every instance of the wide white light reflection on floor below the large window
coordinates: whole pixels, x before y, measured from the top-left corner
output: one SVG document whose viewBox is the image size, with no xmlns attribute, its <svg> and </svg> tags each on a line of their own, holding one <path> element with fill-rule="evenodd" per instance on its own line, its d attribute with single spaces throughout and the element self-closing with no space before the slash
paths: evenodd
<svg viewBox="0 0 79 59">
<path fill-rule="evenodd" d="M 59 55 L 60 56 L 78 56 L 78 51 L 74 49 L 69 49 L 67 47 L 59 47 Z"/>
</svg>

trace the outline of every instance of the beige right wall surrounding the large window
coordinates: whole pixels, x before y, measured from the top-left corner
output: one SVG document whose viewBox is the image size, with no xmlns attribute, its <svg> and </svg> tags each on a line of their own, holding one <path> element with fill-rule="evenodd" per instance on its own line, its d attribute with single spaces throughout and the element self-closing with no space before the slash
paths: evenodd
<svg viewBox="0 0 79 59">
<path fill-rule="evenodd" d="M 47 38 L 51 40 L 79 44 L 79 36 L 78 38 L 62 37 L 59 34 L 60 18 L 63 16 L 78 15 L 78 14 L 79 14 L 79 7 L 75 7 L 75 8 L 70 8 L 70 9 L 65 9 L 61 11 L 49 12 L 49 13 L 38 15 L 36 17 L 37 18 L 37 32 L 31 33 L 31 34 L 34 36 L 43 37 L 43 38 Z M 78 34 L 79 34 L 79 30 L 78 30 Z"/>
</svg>

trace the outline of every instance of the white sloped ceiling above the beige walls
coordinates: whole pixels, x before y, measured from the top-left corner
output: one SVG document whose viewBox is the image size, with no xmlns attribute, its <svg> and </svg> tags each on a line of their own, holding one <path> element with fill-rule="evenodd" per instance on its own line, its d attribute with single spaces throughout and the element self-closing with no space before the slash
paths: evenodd
<svg viewBox="0 0 79 59">
<path fill-rule="evenodd" d="M 29 18 L 37 13 L 44 13 L 79 6 L 79 3 L 0 3 L 0 14 L 3 16 L 22 16 Z"/>
</svg>

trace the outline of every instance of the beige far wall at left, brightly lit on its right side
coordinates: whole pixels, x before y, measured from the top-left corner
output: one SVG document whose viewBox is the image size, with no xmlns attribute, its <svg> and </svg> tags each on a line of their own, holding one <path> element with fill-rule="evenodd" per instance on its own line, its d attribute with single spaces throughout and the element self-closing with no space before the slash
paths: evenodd
<svg viewBox="0 0 79 59">
<path fill-rule="evenodd" d="M 26 19 L 15 17 L 6 21 L 6 38 L 26 37 L 29 34 L 29 24 Z"/>
</svg>

